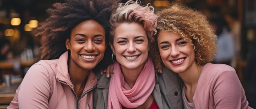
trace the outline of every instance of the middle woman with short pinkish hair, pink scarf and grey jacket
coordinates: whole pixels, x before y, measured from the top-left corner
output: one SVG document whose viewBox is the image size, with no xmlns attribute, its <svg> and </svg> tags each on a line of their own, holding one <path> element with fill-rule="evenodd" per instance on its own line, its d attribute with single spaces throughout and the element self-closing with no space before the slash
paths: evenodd
<svg viewBox="0 0 256 109">
<path fill-rule="evenodd" d="M 121 3 L 110 18 L 114 74 L 101 76 L 94 90 L 96 109 L 181 109 L 182 81 L 166 70 L 155 73 L 148 50 L 156 33 L 157 15 L 149 4 Z M 167 76 L 168 75 L 168 76 Z"/>
</svg>

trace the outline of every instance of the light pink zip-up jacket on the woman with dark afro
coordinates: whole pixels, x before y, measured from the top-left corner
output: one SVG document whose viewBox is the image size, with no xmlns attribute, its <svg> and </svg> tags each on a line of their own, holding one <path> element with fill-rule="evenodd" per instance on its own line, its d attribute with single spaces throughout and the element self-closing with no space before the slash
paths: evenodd
<svg viewBox="0 0 256 109">
<path fill-rule="evenodd" d="M 88 76 L 81 98 L 74 93 L 67 68 L 68 53 L 59 59 L 41 60 L 28 70 L 7 109 L 93 109 L 93 72 Z"/>
</svg>

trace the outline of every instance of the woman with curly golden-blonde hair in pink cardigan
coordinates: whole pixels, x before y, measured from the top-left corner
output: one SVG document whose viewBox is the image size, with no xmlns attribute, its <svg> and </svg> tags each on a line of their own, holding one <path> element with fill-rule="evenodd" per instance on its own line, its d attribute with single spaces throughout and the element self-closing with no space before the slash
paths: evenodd
<svg viewBox="0 0 256 109">
<path fill-rule="evenodd" d="M 216 35 L 202 13 L 173 4 L 159 13 L 157 31 L 150 52 L 182 78 L 185 109 L 251 108 L 234 68 L 211 63 Z"/>
</svg>

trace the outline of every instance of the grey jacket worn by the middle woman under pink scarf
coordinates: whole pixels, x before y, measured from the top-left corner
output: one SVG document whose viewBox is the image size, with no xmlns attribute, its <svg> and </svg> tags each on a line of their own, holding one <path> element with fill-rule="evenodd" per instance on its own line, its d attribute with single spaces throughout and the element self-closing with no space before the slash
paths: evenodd
<svg viewBox="0 0 256 109">
<path fill-rule="evenodd" d="M 107 109 L 110 78 L 106 78 L 106 74 L 98 74 L 97 77 L 99 83 L 93 91 L 94 109 Z M 156 73 L 155 77 L 153 97 L 159 109 L 182 109 L 181 78 L 166 67 L 163 68 L 163 74 Z"/>
</svg>

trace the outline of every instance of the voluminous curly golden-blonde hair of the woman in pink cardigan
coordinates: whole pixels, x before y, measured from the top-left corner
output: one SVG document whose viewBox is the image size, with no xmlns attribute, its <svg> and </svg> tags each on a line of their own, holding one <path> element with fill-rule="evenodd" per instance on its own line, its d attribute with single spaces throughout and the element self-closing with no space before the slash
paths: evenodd
<svg viewBox="0 0 256 109">
<path fill-rule="evenodd" d="M 178 33 L 185 41 L 193 45 L 195 61 L 198 65 L 212 62 L 216 55 L 215 30 L 202 13 L 190 9 L 182 4 L 172 4 L 167 9 L 158 13 L 157 31 Z M 151 44 L 150 55 L 155 57 L 156 70 L 162 69 L 162 60 L 155 42 Z"/>
</svg>

